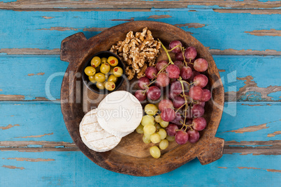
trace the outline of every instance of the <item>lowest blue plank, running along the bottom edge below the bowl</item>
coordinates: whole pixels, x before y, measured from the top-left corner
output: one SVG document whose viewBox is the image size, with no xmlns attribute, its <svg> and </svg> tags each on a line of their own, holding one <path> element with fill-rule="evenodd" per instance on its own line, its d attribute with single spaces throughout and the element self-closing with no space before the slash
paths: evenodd
<svg viewBox="0 0 281 187">
<path fill-rule="evenodd" d="M 2 151 L 0 157 L 0 186 L 279 186 L 281 182 L 277 164 L 281 156 L 231 154 L 209 165 L 195 159 L 155 177 L 110 172 L 79 151 Z"/>
</svg>

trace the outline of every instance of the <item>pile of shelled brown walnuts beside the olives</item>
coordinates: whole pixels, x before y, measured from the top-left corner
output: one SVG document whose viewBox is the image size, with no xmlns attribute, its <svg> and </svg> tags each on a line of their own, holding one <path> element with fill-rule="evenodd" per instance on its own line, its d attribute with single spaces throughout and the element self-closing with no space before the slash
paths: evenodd
<svg viewBox="0 0 281 187">
<path fill-rule="evenodd" d="M 118 41 L 117 45 L 110 48 L 110 52 L 117 54 L 126 64 L 126 75 L 129 80 L 145 76 L 147 66 L 155 66 L 156 57 L 159 55 L 161 43 L 154 40 L 150 30 L 145 27 L 143 32 L 133 31 L 127 33 L 124 41 Z"/>
</svg>

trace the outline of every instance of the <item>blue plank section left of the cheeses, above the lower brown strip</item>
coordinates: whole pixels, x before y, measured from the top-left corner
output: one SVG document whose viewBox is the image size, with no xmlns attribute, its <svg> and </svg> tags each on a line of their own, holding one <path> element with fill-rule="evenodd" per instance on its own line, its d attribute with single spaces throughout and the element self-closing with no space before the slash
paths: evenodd
<svg viewBox="0 0 281 187">
<path fill-rule="evenodd" d="M 72 142 L 59 104 L 0 103 L 0 141 Z"/>
</svg>

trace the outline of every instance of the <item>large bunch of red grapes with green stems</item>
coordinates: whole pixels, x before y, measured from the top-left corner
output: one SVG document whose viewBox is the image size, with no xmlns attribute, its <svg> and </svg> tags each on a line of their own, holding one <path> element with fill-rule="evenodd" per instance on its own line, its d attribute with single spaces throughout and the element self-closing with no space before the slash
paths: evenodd
<svg viewBox="0 0 281 187">
<path fill-rule="evenodd" d="M 161 47 L 168 60 L 147 67 L 145 77 L 138 80 L 141 89 L 135 96 L 140 101 L 146 98 L 158 100 L 161 88 L 165 87 L 167 97 L 158 104 L 159 121 L 167 122 L 166 133 L 178 144 L 195 143 L 199 140 L 199 131 L 207 126 L 203 114 L 205 103 L 211 98 L 210 90 L 206 89 L 208 77 L 204 75 L 208 61 L 196 58 L 196 48 L 189 46 L 185 49 L 179 40 L 173 40 L 169 50 L 162 43 Z M 172 61 L 168 52 L 175 53 L 176 61 Z"/>
</svg>

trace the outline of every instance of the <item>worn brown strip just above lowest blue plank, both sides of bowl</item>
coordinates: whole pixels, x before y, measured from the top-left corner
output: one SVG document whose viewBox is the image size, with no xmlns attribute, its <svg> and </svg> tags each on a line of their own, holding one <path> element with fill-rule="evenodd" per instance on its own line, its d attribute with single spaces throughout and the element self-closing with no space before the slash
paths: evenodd
<svg viewBox="0 0 281 187">
<path fill-rule="evenodd" d="M 48 141 L 3 141 L 0 151 L 79 151 L 74 143 Z M 224 154 L 281 155 L 281 140 L 271 141 L 228 141 L 224 143 Z"/>
</svg>

